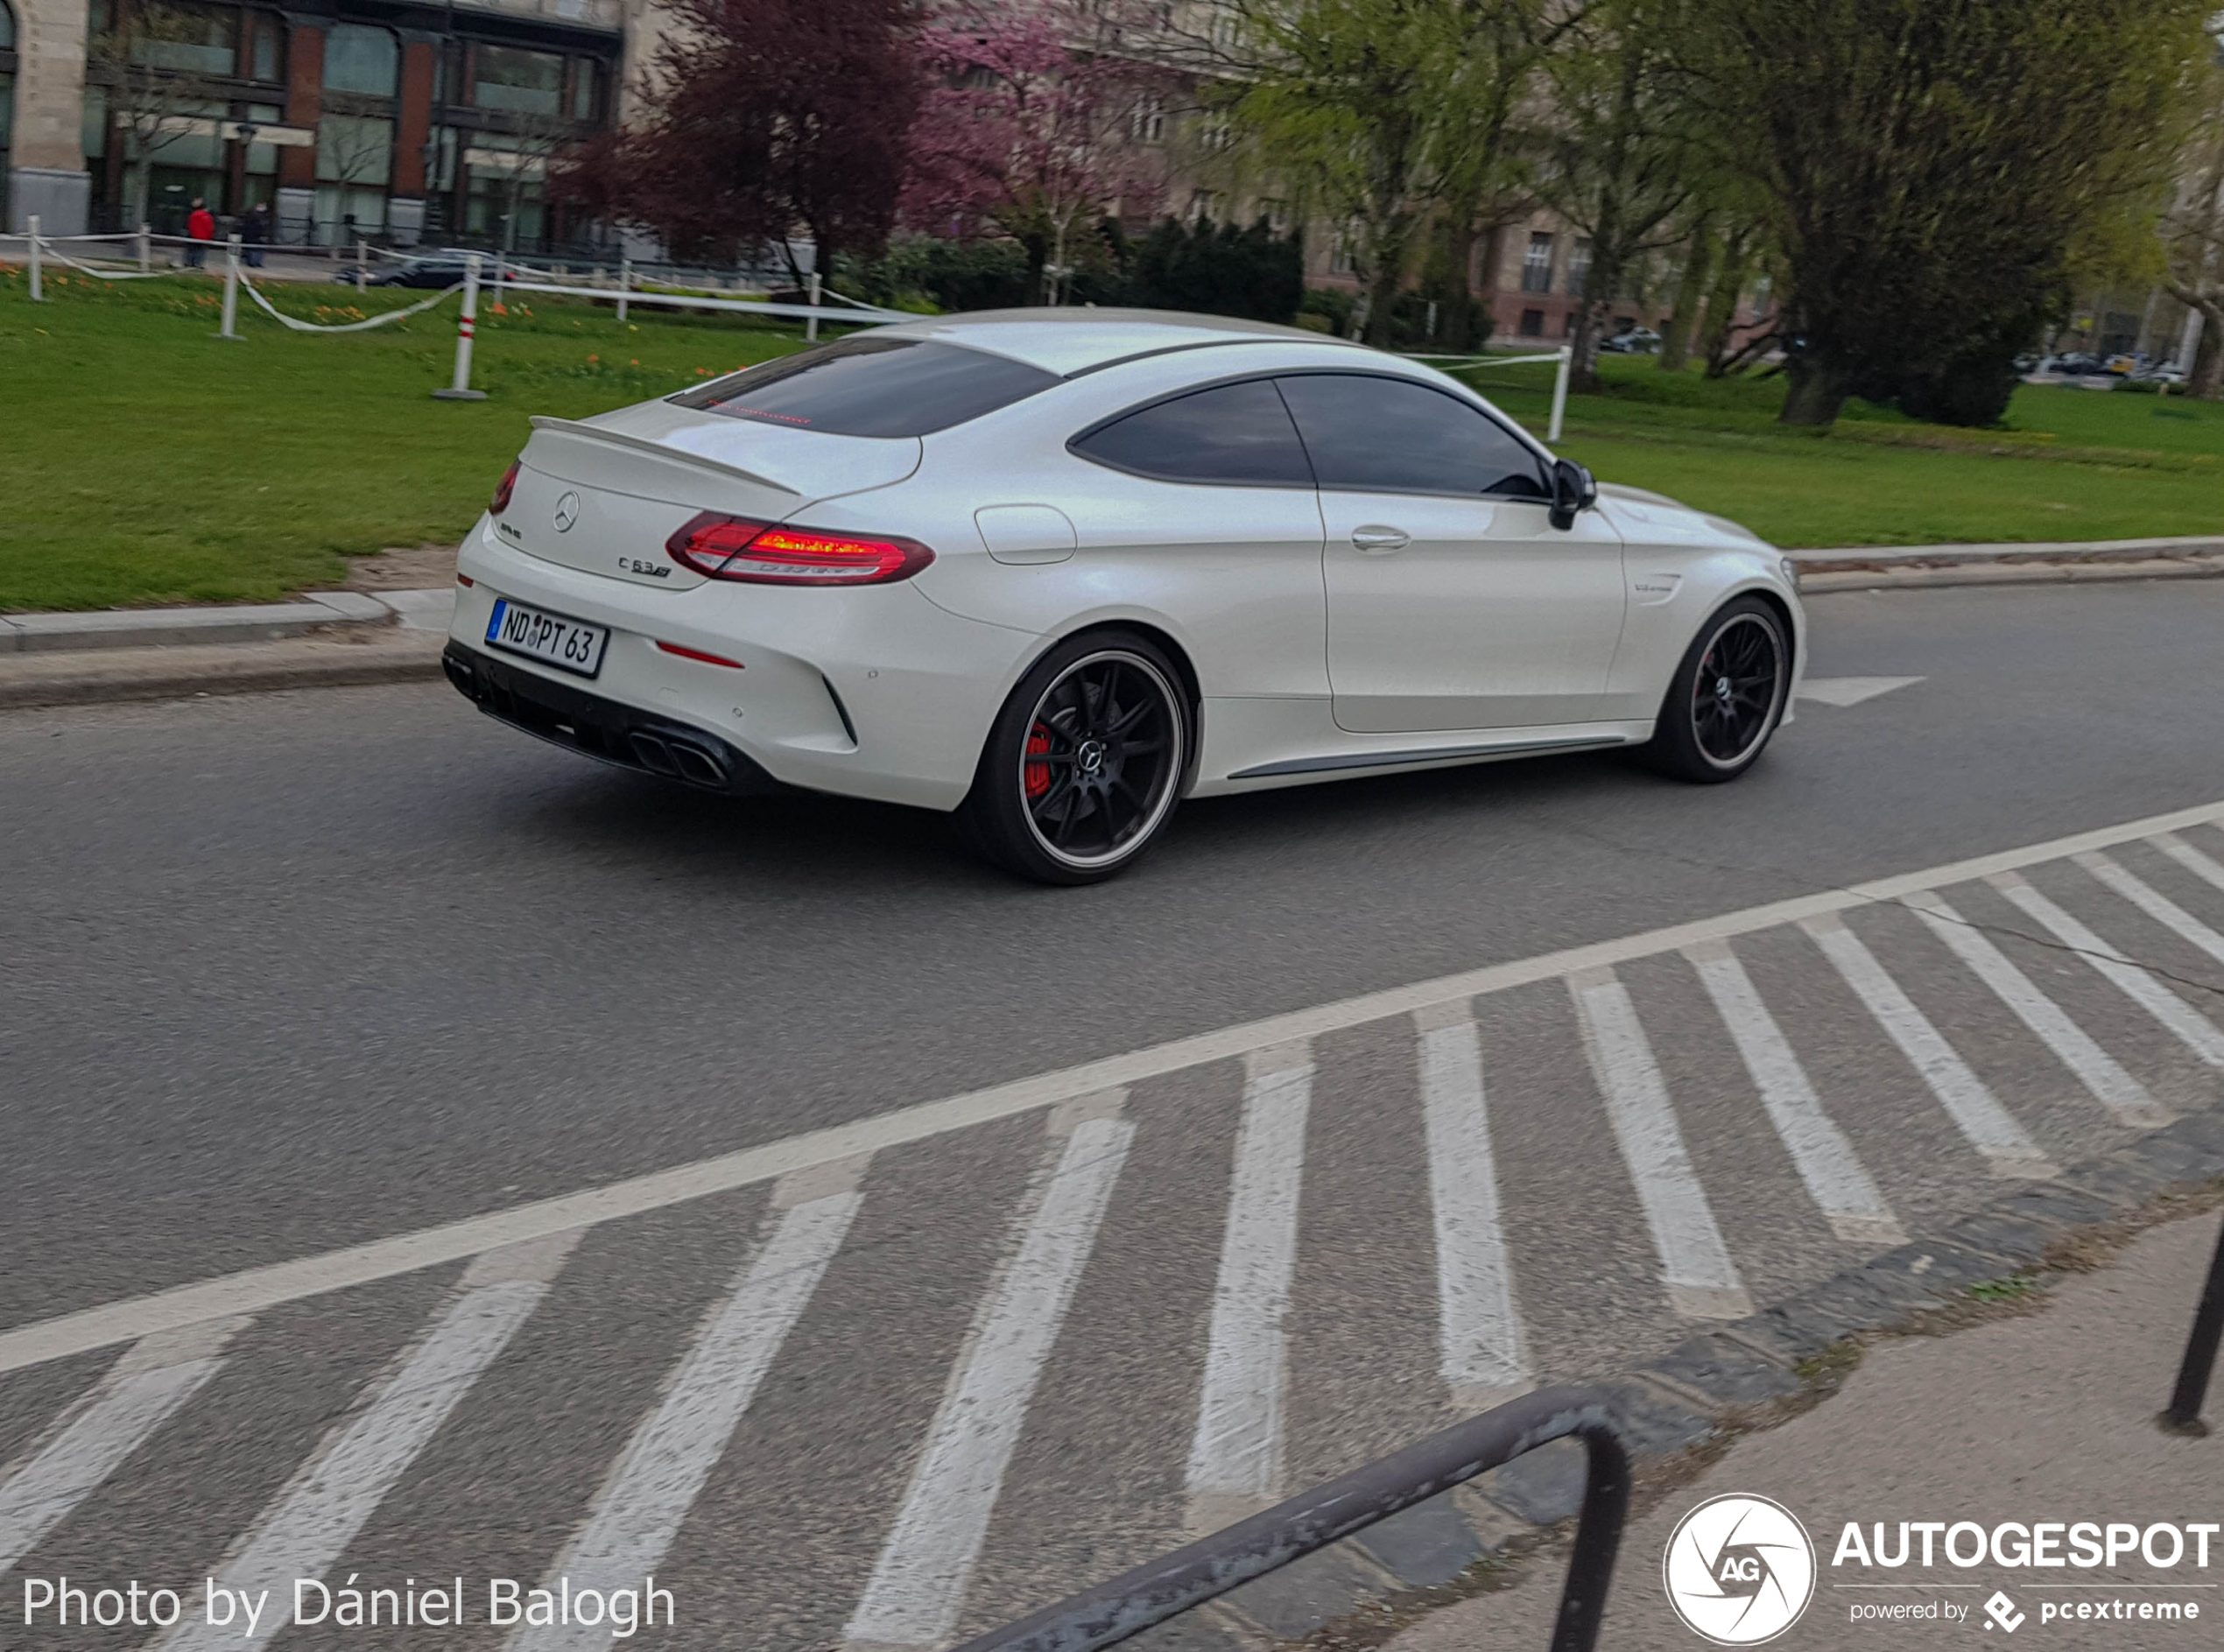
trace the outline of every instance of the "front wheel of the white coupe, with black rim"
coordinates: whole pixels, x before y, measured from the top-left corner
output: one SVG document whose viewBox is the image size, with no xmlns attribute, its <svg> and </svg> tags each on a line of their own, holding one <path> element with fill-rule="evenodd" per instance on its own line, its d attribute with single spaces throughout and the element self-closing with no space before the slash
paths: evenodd
<svg viewBox="0 0 2224 1652">
<path fill-rule="evenodd" d="M 1735 780 L 1768 749 L 1790 680 L 1793 643 L 1784 616 L 1757 596 L 1724 603 L 1668 678 L 1641 756 L 1677 780 Z"/>
</svg>

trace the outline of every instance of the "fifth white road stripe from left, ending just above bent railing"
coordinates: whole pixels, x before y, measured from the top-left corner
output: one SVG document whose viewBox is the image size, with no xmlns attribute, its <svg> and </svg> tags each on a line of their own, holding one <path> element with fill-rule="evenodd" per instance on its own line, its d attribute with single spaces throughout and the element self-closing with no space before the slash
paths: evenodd
<svg viewBox="0 0 2224 1652">
<path fill-rule="evenodd" d="M 1199 1534 L 1257 1514 L 1281 1490 L 1283 1318 L 1310 1107 L 1310 1045 L 1245 1056 L 1243 1125 L 1185 1476 L 1188 1523 Z"/>
</svg>

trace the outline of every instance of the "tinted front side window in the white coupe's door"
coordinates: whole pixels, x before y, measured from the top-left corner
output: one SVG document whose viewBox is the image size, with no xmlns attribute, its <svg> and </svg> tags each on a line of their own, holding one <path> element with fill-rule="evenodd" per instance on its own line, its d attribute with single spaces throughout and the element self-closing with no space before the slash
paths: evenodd
<svg viewBox="0 0 2224 1652">
<path fill-rule="evenodd" d="M 1321 487 L 1552 498 L 1537 456 L 1479 407 L 1359 374 L 1277 380 Z"/>
</svg>

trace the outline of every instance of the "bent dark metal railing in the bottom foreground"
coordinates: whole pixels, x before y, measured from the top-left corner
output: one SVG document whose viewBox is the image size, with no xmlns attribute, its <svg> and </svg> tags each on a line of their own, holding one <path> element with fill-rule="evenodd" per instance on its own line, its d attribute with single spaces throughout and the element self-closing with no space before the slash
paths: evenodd
<svg viewBox="0 0 2224 1652">
<path fill-rule="evenodd" d="M 1523 1394 L 1225 1532 L 967 1641 L 959 1652 L 1096 1652 L 1116 1645 L 1559 1439 L 1579 1439 L 1590 1463 L 1575 1554 L 1552 1625 L 1552 1652 L 1590 1652 L 1599 1639 L 1606 1588 L 1630 1510 L 1630 1447 L 1621 1416 L 1612 1399 L 1595 1387 Z"/>
</svg>

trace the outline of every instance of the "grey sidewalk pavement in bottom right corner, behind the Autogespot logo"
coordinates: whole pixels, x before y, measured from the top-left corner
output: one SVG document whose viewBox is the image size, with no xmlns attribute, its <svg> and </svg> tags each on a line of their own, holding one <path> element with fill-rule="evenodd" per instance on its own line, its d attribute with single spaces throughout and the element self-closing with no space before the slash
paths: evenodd
<svg viewBox="0 0 2224 1652">
<path fill-rule="evenodd" d="M 2177 1372 L 2215 1241 L 2215 1214 L 2180 1218 L 2133 1241 L 2099 1272 L 2035 1294 L 2031 1312 L 1946 1336 L 1882 1341 L 1817 1410 L 1739 1439 L 1697 1479 L 1655 1494 L 1650 1507 L 1641 1487 L 1639 1514 L 1621 1539 L 1601 1650 L 1706 1645 L 1670 1610 L 1661 1556 L 1677 1521 L 1724 1492 L 1786 1505 L 1815 1543 L 1815 1599 L 1773 1641 L 1786 1652 L 1913 1645 L 1990 1630 L 1984 1601 L 1995 1590 L 2028 1619 L 2017 1625 L 2022 1639 L 2044 1648 L 2217 1645 L 2224 1543 L 2211 1547 L 2206 1572 L 2195 1568 L 2191 1545 L 2171 1570 L 2142 1563 L 2137 1552 L 2115 1570 L 1990 1561 L 1924 1568 L 1917 1552 L 1904 1568 L 1861 1568 L 1853 1559 L 1833 1565 L 1848 1521 L 1861 1525 L 1864 1539 L 1882 1521 L 1886 1543 L 1897 1543 L 1902 1521 L 1975 1521 L 1986 1532 L 2002 1521 L 2119 1521 L 2142 1532 L 2157 1521 L 2224 1521 L 2224 1427 L 2182 1439 L 2153 1421 Z M 2224 1385 L 2211 1392 L 2206 1414 L 2224 1423 Z M 1537 1554 L 1512 1588 L 1421 1619 L 1388 1641 L 1390 1652 L 1541 1652 L 1552 1639 L 1563 1556 L 1563 1545 Z M 1893 1588 L 1875 1588 L 1879 1581 Z M 2200 1621 L 2042 1621 L 2046 1605 L 2059 1612 L 2115 1599 L 2197 1603 Z M 1879 1601 L 1953 1603 L 1968 1621 L 1853 1621 L 1855 1605 L 1873 1610 Z"/>
</svg>

